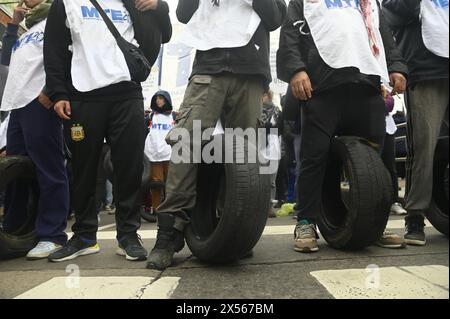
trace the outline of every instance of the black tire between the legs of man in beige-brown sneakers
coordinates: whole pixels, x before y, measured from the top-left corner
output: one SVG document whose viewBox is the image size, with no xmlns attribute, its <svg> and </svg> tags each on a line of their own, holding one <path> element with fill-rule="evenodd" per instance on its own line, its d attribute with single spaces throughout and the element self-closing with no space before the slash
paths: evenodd
<svg viewBox="0 0 450 319">
<path fill-rule="evenodd" d="M 341 189 L 341 177 L 349 188 Z M 374 244 L 386 228 L 393 201 L 392 181 L 378 153 L 364 139 L 333 140 L 323 182 L 319 229 L 336 249 Z"/>
</svg>

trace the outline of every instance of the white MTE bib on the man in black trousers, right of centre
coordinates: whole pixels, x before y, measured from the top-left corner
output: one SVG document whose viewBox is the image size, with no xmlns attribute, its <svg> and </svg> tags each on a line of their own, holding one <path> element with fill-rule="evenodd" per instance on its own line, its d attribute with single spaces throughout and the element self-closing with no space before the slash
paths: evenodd
<svg viewBox="0 0 450 319">
<path fill-rule="evenodd" d="M 304 0 L 305 18 L 325 63 L 334 68 L 355 67 L 363 74 L 378 75 L 389 83 L 386 53 L 379 30 L 379 8 L 372 2 L 373 28 L 380 54 L 372 53 L 358 0 Z"/>
</svg>

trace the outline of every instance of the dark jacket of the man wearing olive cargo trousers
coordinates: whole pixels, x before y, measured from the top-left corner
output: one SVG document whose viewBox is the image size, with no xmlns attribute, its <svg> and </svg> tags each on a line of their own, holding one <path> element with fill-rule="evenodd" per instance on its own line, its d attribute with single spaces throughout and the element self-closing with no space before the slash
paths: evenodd
<svg viewBox="0 0 450 319">
<path fill-rule="evenodd" d="M 199 0 L 179 0 L 178 20 L 188 23 L 198 7 Z M 262 22 L 250 43 L 240 48 L 197 51 L 192 75 L 231 72 L 260 75 L 264 77 L 266 84 L 272 81 L 269 63 L 269 32 L 278 29 L 283 23 L 286 16 L 286 3 L 284 0 L 257 0 L 253 1 L 253 9 Z"/>
</svg>

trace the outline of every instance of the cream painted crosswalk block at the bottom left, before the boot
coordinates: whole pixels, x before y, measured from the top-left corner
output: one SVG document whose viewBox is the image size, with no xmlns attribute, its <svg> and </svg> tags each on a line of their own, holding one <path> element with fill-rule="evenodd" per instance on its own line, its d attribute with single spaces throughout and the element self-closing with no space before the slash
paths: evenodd
<svg viewBox="0 0 450 319">
<path fill-rule="evenodd" d="M 168 299 L 179 277 L 55 277 L 15 299 Z"/>
</svg>

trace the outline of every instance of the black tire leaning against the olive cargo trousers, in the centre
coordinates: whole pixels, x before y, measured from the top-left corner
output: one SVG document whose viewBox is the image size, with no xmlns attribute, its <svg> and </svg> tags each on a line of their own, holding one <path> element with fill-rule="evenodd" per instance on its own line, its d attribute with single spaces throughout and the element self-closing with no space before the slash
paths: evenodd
<svg viewBox="0 0 450 319">
<path fill-rule="evenodd" d="M 234 149 L 236 158 L 244 158 L 245 151 Z M 270 178 L 260 174 L 259 164 L 243 162 L 199 165 L 197 203 L 185 236 L 203 262 L 226 264 L 244 257 L 264 231 Z"/>
</svg>

